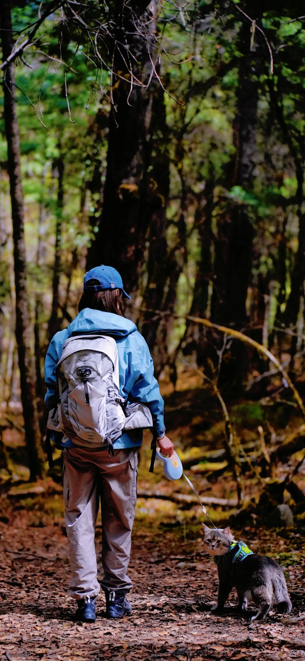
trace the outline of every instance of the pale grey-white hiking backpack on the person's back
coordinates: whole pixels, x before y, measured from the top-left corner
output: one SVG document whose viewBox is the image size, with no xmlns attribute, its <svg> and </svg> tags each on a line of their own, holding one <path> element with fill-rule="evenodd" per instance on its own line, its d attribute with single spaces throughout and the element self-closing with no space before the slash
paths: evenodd
<svg viewBox="0 0 305 661">
<path fill-rule="evenodd" d="M 79 446 L 113 444 L 122 432 L 152 428 L 152 416 L 141 403 L 124 404 L 119 395 L 119 358 L 114 338 L 71 336 L 56 367 L 59 401 L 50 411 L 48 428 L 61 431 Z"/>
</svg>

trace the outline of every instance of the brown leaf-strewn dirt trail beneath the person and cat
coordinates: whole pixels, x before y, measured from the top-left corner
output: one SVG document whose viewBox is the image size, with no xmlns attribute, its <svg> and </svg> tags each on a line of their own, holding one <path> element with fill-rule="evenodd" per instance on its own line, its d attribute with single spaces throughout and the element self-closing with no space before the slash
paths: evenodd
<svg viewBox="0 0 305 661">
<path fill-rule="evenodd" d="M 0 533 L 1 661 L 305 658 L 302 620 L 288 624 L 290 617 L 273 615 L 249 625 L 250 613 L 244 618 L 232 611 L 233 595 L 226 613 L 213 615 L 216 568 L 198 540 L 185 543 L 175 529 L 158 528 L 156 534 L 135 524 L 133 613 L 120 621 L 105 619 L 101 594 L 94 625 L 71 621 L 75 607 L 65 594 L 69 564 L 61 525 L 24 529 L 0 523 Z M 255 536 L 267 548 L 279 547 L 280 541 L 283 547 L 279 534 L 255 531 Z M 97 550 L 100 537 L 98 529 Z M 305 611 L 298 565 L 303 543 L 296 535 L 296 564 L 287 567 L 294 619 Z"/>
</svg>

